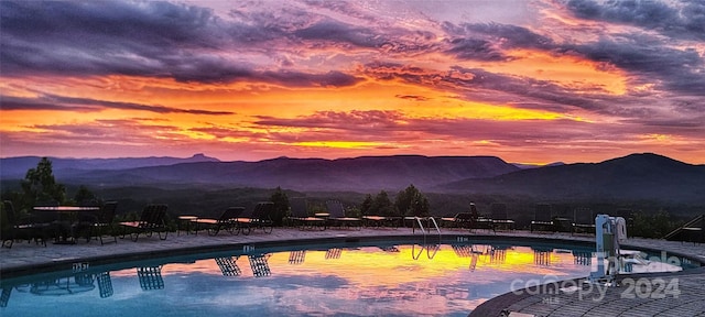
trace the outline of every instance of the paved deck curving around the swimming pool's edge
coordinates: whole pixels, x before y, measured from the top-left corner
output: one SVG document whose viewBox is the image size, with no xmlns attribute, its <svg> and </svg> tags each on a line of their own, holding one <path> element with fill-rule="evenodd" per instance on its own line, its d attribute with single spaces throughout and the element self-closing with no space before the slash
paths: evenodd
<svg viewBox="0 0 705 317">
<path fill-rule="evenodd" d="M 141 236 L 137 242 L 129 239 L 118 239 L 118 243 L 100 245 L 97 241 L 86 243 L 79 240 L 77 244 L 48 244 L 46 248 L 34 243 L 15 242 L 11 249 L 0 250 L 0 272 L 8 276 L 32 272 L 37 269 L 52 265 L 70 265 L 76 261 L 101 259 L 101 258 L 127 258 L 135 254 L 164 254 L 175 253 L 184 250 L 208 250 L 227 245 L 241 245 L 243 243 L 267 243 L 285 242 L 307 239 L 329 239 L 329 238 L 372 238 L 372 237 L 394 237 L 411 236 L 410 228 L 399 229 L 361 229 L 338 230 L 328 229 L 325 231 L 302 231 L 299 229 L 275 228 L 271 234 L 265 234 L 257 230 L 249 236 L 230 236 L 220 232 L 216 237 L 208 236 L 205 231 L 196 234 L 185 234 L 181 232 L 170 232 L 164 241 L 156 237 L 144 238 Z M 419 233 L 416 233 L 419 234 Z M 442 234 L 447 237 L 470 236 L 470 237 L 497 237 L 519 238 L 519 239 L 541 239 L 541 240 L 568 240 L 589 243 L 594 237 L 576 236 L 570 233 L 530 233 L 527 231 L 511 232 L 487 232 L 484 230 L 469 233 L 466 230 L 442 229 Z M 705 262 L 705 244 L 682 243 L 663 240 L 630 238 L 626 243 L 628 247 L 643 248 L 651 250 L 665 250 L 676 255 L 686 255 L 699 262 Z M 0 275 L 0 277 L 2 277 Z M 658 287 L 664 281 L 677 278 L 677 291 L 675 295 L 666 292 L 661 296 L 644 296 L 643 292 L 636 291 L 633 296 L 626 292 L 628 287 L 611 287 L 603 289 L 587 289 L 577 292 L 554 292 L 556 289 L 543 289 L 543 292 L 523 292 L 522 294 L 508 293 L 491 298 L 478 306 L 470 316 L 500 316 L 502 311 L 523 313 L 533 316 L 705 316 L 705 266 L 688 270 L 681 273 L 658 273 L 642 276 L 638 286 Z M 636 277 L 634 277 L 636 278 Z M 639 281 L 639 280 L 637 280 Z M 632 285 L 636 282 L 632 282 Z M 628 283 L 625 283 L 628 286 Z M 648 284 L 648 285 L 647 285 Z M 579 284 L 578 284 L 579 285 Z M 664 285 L 666 286 L 666 285 Z M 585 288 L 585 287 L 583 287 Z M 671 288 L 669 288 L 671 289 Z M 673 291 L 673 289 L 671 289 Z M 648 294 L 647 294 L 648 295 Z M 631 298 L 630 298 L 631 297 Z M 644 298 L 642 298 L 644 297 Z M 598 298 L 599 300 L 595 300 Z"/>
</svg>

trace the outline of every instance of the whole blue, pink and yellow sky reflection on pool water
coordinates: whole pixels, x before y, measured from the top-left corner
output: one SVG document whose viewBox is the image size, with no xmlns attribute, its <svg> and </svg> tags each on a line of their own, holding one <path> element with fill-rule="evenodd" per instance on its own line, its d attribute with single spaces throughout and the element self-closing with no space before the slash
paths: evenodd
<svg viewBox="0 0 705 317">
<path fill-rule="evenodd" d="M 589 265 L 560 250 L 405 244 L 218 253 L 221 258 L 144 264 L 141 272 L 150 276 L 134 267 L 111 271 L 111 295 L 98 303 L 115 300 L 144 316 L 163 313 L 159 309 L 164 306 L 172 313 L 178 307 L 180 316 L 467 316 L 482 302 L 511 291 L 512 281 L 588 275 Z M 97 291 L 42 303 L 80 309 L 84 303 L 96 303 L 99 296 L 93 293 Z M 36 296 L 13 294 L 10 309 L 40 309 L 31 303 Z"/>
</svg>

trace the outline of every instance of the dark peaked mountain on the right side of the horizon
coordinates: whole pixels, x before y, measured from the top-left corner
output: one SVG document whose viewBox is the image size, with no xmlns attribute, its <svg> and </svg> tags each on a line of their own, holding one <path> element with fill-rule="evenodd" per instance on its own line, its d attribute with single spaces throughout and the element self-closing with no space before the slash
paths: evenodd
<svg viewBox="0 0 705 317">
<path fill-rule="evenodd" d="M 705 165 L 641 153 L 600 163 L 522 170 L 452 182 L 440 192 L 527 195 L 545 199 L 641 199 L 705 206 Z"/>
</svg>

